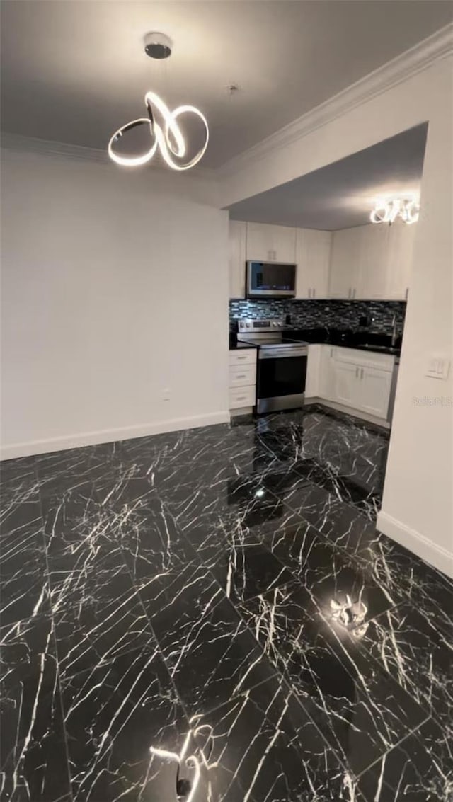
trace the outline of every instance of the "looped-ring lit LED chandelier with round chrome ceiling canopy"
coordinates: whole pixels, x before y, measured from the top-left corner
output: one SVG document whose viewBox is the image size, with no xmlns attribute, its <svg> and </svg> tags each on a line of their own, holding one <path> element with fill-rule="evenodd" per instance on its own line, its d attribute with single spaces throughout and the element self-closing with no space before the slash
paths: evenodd
<svg viewBox="0 0 453 802">
<path fill-rule="evenodd" d="M 172 40 L 165 34 L 147 34 L 144 38 L 144 45 L 145 53 L 152 59 L 168 59 L 172 54 Z M 198 164 L 204 156 L 209 140 L 208 122 L 201 111 L 195 106 L 188 105 L 178 106 L 174 111 L 170 111 L 164 100 L 159 95 L 156 95 L 156 92 L 152 91 L 146 93 L 144 102 L 147 107 L 148 117 L 131 120 L 130 123 L 118 128 L 118 131 L 115 131 L 114 135 L 111 136 L 111 140 L 108 143 L 108 155 L 111 160 L 124 167 L 140 167 L 141 164 L 147 164 L 148 161 L 151 161 L 159 148 L 164 161 L 173 170 L 189 170 Z M 192 159 L 184 162 L 187 146 L 180 129 L 179 119 L 181 115 L 185 114 L 196 115 L 200 118 L 204 127 L 204 144 Z M 123 156 L 115 152 L 115 143 L 118 143 L 127 131 L 131 131 L 132 128 L 137 128 L 140 125 L 148 126 L 151 147 L 140 156 Z"/>
</svg>

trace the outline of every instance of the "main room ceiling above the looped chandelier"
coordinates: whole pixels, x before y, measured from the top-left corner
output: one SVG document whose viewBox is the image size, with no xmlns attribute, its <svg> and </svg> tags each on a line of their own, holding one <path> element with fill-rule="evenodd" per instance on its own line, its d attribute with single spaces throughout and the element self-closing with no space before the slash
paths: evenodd
<svg viewBox="0 0 453 802">
<path fill-rule="evenodd" d="M 453 18 L 443 0 L 2 0 L 2 129 L 105 148 L 144 92 L 193 103 L 217 167 Z M 168 62 L 144 55 L 163 30 Z M 229 83 L 241 91 L 230 97 Z"/>
</svg>

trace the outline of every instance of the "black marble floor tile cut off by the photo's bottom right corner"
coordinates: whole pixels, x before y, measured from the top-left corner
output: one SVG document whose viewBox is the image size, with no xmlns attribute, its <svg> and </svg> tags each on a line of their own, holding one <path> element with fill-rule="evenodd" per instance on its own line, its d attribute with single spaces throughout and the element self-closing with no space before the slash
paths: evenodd
<svg viewBox="0 0 453 802">
<path fill-rule="evenodd" d="M 451 731 L 428 720 L 362 774 L 358 787 L 373 802 L 451 802 Z"/>
</svg>

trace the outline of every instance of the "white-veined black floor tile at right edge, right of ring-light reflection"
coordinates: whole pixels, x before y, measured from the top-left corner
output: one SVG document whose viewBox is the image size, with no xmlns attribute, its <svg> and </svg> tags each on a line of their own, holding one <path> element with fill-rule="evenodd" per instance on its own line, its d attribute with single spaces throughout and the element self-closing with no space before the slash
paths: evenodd
<svg viewBox="0 0 453 802">
<path fill-rule="evenodd" d="M 445 726 L 453 721 L 453 642 L 423 609 L 405 604 L 388 610 L 351 637 L 360 638 L 362 648 L 427 715 Z"/>
</svg>

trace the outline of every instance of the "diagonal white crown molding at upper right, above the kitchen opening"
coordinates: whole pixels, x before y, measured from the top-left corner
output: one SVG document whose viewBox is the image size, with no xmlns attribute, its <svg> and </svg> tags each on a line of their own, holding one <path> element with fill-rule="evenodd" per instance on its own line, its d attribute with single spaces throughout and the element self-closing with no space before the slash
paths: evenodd
<svg viewBox="0 0 453 802">
<path fill-rule="evenodd" d="M 323 125 L 352 111 L 367 100 L 370 100 L 391 87 L 402 83 L 412 75 L 423 71 L 431 64 L 444 59 L 453 52 L 453 23 L 444 26 L 422 42 L 411 47 L 391 61 L 382 64 L 382 67 L 370 72 L 349 87 L 338 92 L 337 95 L 327 99 L 319 106 L 306 111 L 292 123 L 280 128 L 274 134 L 267 136 L 251 148 L 233 156 L 218 168 L 219 178 L 227 177 L 239 172 L 249 165 L 264 159 L 270 151 L 287 147 L 303 136 L 316 131 Z"/>
</svg>

